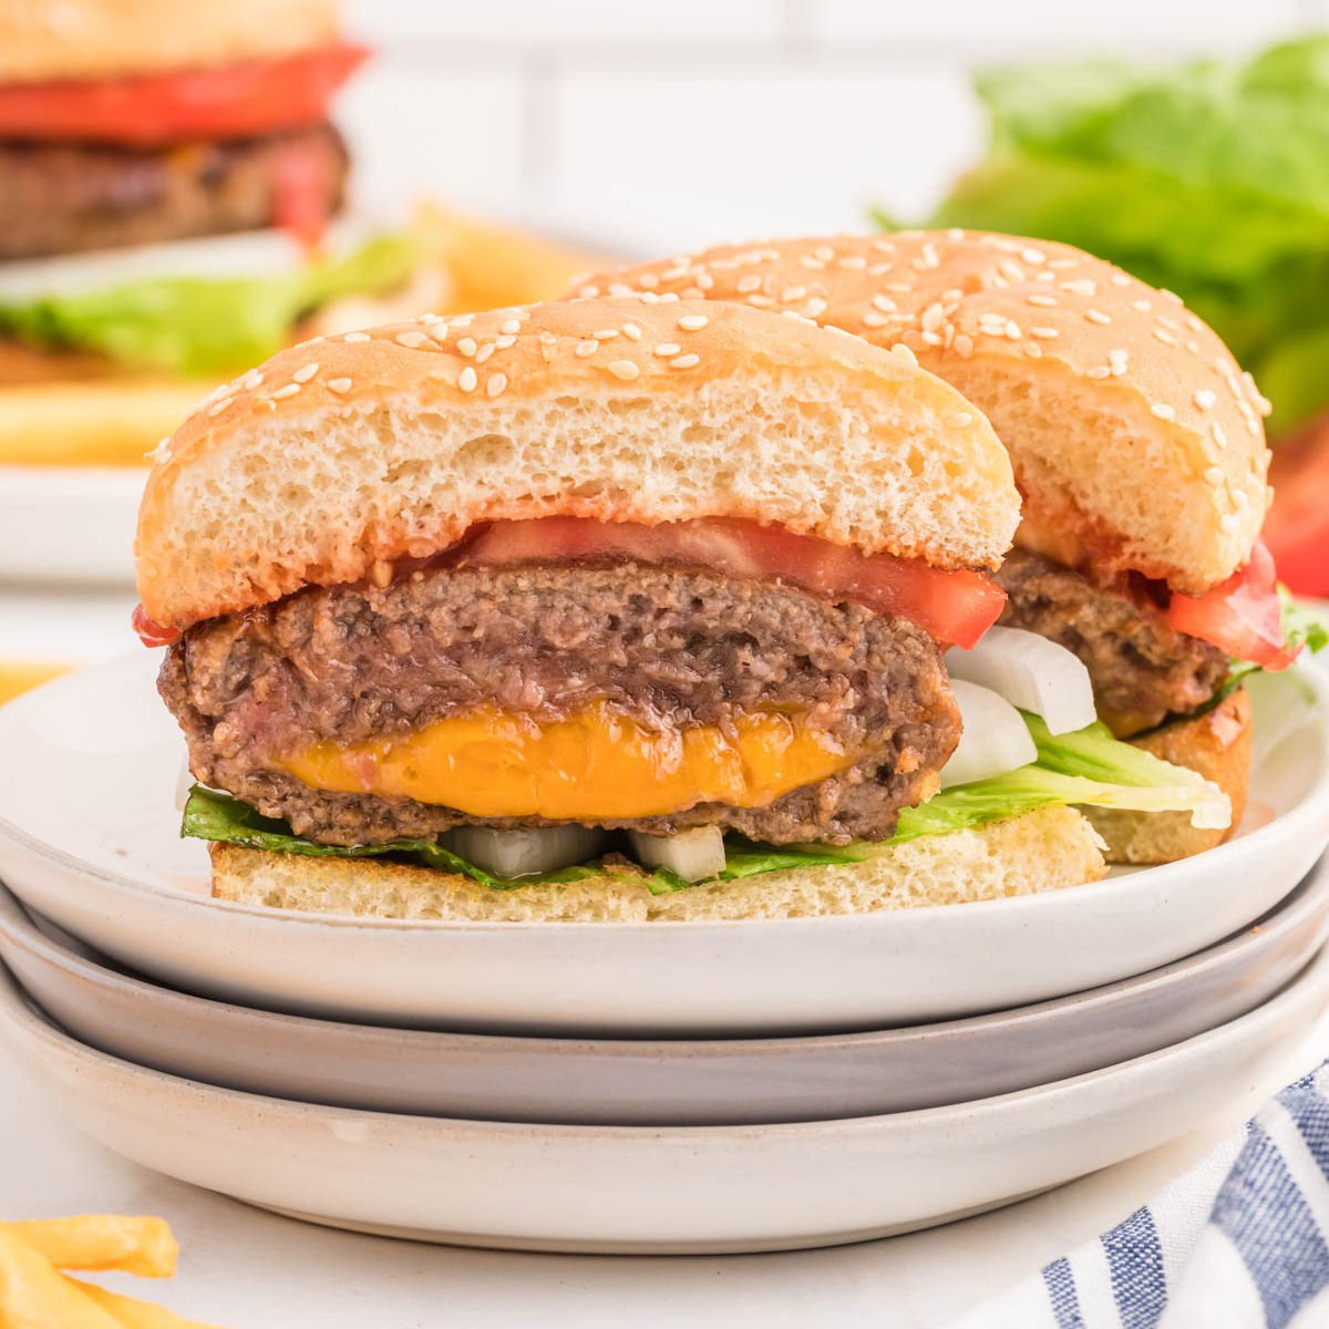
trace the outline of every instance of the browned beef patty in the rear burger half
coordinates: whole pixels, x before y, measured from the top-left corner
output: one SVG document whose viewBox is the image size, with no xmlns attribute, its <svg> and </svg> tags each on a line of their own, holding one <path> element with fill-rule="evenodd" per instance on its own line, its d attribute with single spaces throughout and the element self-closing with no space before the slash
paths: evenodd
<svg viewBox="0 0 1329 1329">
<path fill-rule="evenodd" d="M 1223 651 L 1179 633 L 1147 591 L 1127 581 L 1096 586 L 1023 549 L 1006 556 L 997 581 L 1009 597 L 1001 622 L 1074 651 L 1118 738 L 1197 710 L 1228 676 Z"/>
</svg>

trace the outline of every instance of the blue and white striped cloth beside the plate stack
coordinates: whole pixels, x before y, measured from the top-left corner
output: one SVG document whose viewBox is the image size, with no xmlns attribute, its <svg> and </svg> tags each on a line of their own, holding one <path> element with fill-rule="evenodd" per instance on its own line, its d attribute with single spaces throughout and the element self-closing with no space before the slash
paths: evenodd
<svg viewBox="0 0 1329 1329">
<path fill-rule="evenodd" d="M 952 1329 L 1329 1326 L 1329 1062 L 1096 1241 Z"/>
</svg>

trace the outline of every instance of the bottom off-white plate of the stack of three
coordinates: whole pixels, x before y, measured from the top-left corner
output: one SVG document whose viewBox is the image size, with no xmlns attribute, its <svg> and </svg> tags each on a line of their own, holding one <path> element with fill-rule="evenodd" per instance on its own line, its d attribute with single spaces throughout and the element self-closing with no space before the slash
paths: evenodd
<svg viewBox="0 0 1329 1329">
<path fill-rule="evenodd" d="M 466 1245 L 683 1253 L 861 1241 L 1118 1163 L 1276 1088 L 1326 997 L 1322 954 L 1249 1015 L 1150 1057 L 957 1107 L 796 1126 L 459 1122 L 239 1094 L 93 1051 L 3 975 L 0 1033 L 94 1139 L 251 1204 Z"/>
</svg>

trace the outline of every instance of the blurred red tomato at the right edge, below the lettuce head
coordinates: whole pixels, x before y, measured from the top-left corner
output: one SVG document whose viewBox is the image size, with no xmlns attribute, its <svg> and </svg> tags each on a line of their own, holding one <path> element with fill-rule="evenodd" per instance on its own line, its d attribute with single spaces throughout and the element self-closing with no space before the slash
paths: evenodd
<svg viewBox="0 0 1329 1329">
<path fill-rule="evenodd" d="M 1264 538 L 1300 595 L 1329 597 L 1329 415 L 1273 449 Z"/>
</svg>

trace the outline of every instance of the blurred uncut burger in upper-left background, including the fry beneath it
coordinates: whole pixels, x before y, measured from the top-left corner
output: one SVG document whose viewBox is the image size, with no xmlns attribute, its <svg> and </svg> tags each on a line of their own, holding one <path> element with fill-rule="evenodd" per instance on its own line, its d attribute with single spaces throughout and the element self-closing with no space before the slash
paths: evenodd
<svg viewBox="0 0 1329 1329">
<path fill-rule="evenodd" d="M 141 464 L 339 302 L 436 294 L 417 237 L 330 230 L 365 57 L 331 0 L 0 5 L 0 462 Z"/>
</svg>

